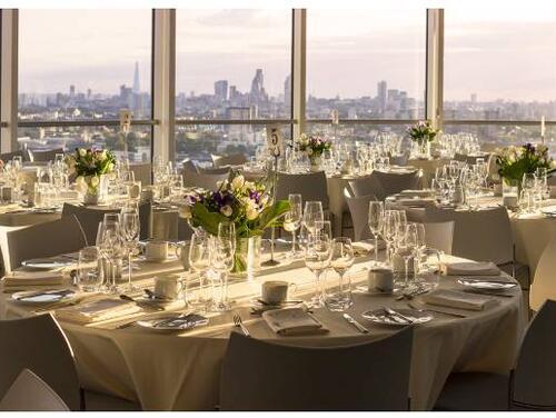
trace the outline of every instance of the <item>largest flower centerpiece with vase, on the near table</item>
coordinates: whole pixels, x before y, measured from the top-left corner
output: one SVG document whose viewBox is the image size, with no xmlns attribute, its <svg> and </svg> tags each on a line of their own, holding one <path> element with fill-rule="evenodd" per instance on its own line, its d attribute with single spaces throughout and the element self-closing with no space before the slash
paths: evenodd
<svg viewBox="0 0 556 418">
<path fill-rule="evenodd" d="M 250 273 L 248 270 L 260 266 L 262 233 L 289 210 L 287 200 L 272 202 L 269 192 L 265 182 L 247 181 L 232 171 L 217 191 L 186 196 L 180 217 L 211 236 L 218 235 L 220 222 L 234 222 L 237 246 L 232 272 Z"/>
</svg>

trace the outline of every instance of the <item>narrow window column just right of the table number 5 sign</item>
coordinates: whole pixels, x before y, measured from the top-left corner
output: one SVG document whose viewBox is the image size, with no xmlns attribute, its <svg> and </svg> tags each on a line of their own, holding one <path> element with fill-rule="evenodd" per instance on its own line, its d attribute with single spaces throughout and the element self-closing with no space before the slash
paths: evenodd
<svg viewBox="0 0 556 418">
<path fill-rule="evenodd" d="M 292 116 L 297 119 L 294 125 L 294 138 L 305 131 L 305 99 L 306 99 L 306 46 L 307 46 L 307 11 L 294 9 L 294 42 L 292 42 L 292 74 L 291 96 Z"/>
</svg>

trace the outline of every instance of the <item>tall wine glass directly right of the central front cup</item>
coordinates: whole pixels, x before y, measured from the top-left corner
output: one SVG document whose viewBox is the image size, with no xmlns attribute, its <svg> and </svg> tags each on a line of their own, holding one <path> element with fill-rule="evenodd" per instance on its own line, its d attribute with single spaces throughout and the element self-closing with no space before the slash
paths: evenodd
<svg viewBox="0 0 556 418">
<path fill-rule="evenodd" d="M 309 231 L 305 249 L 305 265 L 315 273 L 315 296 L 310 303 L 314 308 L 324 306 L 320 276 L 330 265 L 331 241 L 330 221 L 315 221 L 314 232 Z"/>
</svg>

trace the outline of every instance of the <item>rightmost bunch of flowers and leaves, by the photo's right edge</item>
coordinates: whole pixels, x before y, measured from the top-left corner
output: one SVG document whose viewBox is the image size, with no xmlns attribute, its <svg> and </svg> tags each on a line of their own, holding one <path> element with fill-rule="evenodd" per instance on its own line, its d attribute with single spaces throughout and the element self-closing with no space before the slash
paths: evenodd
<svg viewBox="0 0 556 418">
<path fill-rule="evenodd" d="M 554 161 L 544 145 L 525 143 L 520 147 L 505 147 L 496 151 L 498 175 L 504 180 L 517 181 L 520 186 L 525 173 L 534 173 L 539 168 L 554 168 Z"/>
</svg>

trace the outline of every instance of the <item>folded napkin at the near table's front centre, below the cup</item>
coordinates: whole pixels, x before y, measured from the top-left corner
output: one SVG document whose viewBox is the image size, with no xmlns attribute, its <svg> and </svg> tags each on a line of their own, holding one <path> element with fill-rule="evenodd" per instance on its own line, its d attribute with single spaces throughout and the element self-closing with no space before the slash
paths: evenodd
<svg viewBox="0 0 556 418">
<path fill-rule="evenodd" d="M 322 324 L 301 308 L 267 310 L 262 312 L 262 319 L 272 331 L 281 336 L 328 332 L 328 329 L 322 327 Z"/>
</svg>

